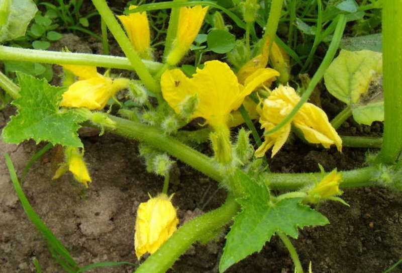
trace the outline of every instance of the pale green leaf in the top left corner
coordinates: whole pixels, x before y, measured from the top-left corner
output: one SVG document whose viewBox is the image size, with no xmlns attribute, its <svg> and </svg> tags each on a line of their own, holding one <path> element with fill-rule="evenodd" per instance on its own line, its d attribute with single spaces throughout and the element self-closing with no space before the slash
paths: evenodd
<svg viewBox="0 0 402 273">
<path fill-rule="evenodd" d="M 8 0 L 9 16 L 7 23 L 0 26 L 0 42 L 24 36 L 28 24 L 38 9 L 32 0 Z"/>
</svg>

